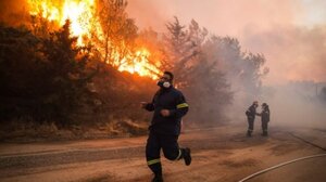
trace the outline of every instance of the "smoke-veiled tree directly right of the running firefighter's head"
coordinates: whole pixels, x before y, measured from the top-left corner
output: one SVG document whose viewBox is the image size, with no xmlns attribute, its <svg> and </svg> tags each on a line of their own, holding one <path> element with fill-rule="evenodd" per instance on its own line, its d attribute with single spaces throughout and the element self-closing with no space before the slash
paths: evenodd
<svg viewBox="0 0 326 182">
<path fill-rule="evenodd" d="M 200 123 L 221 121 L 224 106 L 231 101 L 224 74 L 204 51 L 206 39 L 208 30 L 196 21 L 186 28 L 177 17 L 167 24 L 164 36 L 165 58 L 170 63 L 166 68 L 176 75 L 175 84 L 188 99 L 192 110 L 189 117 Z"/>
</svg>

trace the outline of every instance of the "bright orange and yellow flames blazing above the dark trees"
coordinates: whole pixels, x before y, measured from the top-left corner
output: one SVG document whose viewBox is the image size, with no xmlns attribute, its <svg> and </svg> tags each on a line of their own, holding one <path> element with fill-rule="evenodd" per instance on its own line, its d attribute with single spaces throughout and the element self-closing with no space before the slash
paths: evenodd
<svg viewBox="0 0 326 182">
<path fill-rule="evenodd" d="M 91 44 L 99 60 L 118 70 L 149 76 L 161 74 L 143 47 L 133 44 L 137 26 L 127 17 L 124 0 L 28 0 L 29 13 L 41 16 L 58 27 L 71 21 L 71 36 L 78 46 Z"/>
</svg>

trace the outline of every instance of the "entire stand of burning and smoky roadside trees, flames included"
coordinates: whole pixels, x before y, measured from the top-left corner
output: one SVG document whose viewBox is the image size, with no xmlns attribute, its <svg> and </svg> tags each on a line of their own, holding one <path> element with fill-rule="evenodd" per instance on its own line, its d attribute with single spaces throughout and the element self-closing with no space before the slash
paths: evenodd
<svg viewBox="0 0 326 182">
<path fill-rule="evenodd" d="M 151 100 L 158 88 L 148 86 L 168 69 L 188 99 L 188 117 L 218 122 L 233 99 L 231 76 L 260 86 L 263 55 L 244 56 L 236 39 L 209 36 L 196 21 L 184 26 L 175 17 L 162 39 L 152 29 L 137 32 L 124 0 L 26 2 L 32 18 L 23 27 L 1 26 L 3 120 L 147 120 L 138 103 Z"/>
</svg>

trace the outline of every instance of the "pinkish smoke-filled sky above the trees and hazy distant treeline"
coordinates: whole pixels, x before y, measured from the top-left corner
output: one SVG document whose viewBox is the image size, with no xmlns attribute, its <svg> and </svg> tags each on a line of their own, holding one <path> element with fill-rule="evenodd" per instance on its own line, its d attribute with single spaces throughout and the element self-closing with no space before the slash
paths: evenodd
<svg viewBox="0 0 326 182">
<path fill-rule="evenodd" d="M 324 0 L 128 0 L 127 12 L 140 28 L 165 31 L 177 16 L 183 24 L 193 18 L 211 34 L 238 38 L 242 51 L 265 55 L 266 84 L 326 81 Z"/>
</svg>

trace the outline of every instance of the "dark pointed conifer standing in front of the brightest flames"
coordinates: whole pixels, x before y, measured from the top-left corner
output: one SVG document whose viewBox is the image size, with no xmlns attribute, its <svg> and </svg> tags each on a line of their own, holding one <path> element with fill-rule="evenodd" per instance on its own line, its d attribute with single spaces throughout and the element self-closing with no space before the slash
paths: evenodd
<svg viewBox="0 0 326 182">
<path fill-rule="evenodd" d="M 90 48 L 77 47 L 71 38 L 70 21 L 42 42 L 46 75 L 50 90 L 47 102 L 62 126 L 70 123 L 73 114 L 91 98 L 87 83 L 96 70 L 87 67 Z"/>
</svg>

